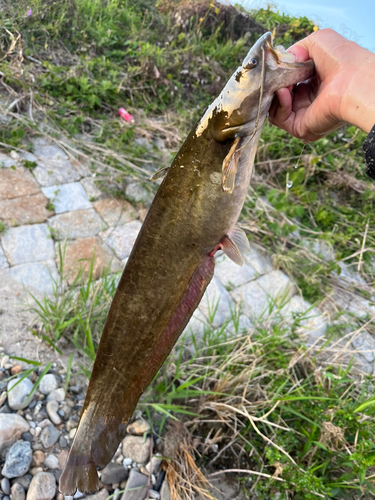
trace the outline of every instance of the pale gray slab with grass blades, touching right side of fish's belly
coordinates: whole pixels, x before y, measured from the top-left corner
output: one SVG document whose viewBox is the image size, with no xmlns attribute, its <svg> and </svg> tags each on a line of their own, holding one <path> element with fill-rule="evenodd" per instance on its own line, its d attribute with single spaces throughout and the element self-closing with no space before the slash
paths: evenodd
<svg viewBox="0 0 375 500">
<path fill-rule="evenodd" d="M 231 319 L 235 304 L 229 292 L 213 277 L 199 304 L 200 311 L 208 318 L 214 328 Z"/>
</svg>

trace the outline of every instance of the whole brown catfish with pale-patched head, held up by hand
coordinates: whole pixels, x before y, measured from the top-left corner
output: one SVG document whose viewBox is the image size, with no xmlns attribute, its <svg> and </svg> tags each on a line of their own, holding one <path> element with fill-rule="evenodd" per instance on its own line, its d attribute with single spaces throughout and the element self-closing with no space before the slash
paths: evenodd
<svg viewBox="0 0 375 500">
<path fill-rule="evenodd" d="M 313 62 L 272 46 L 266 33 L 183 143 L 120 279 L 81 419 L 60 478 L 64 495 L 98 489 L 138 400 L 198 306 L 222 249 L 242 264 L 235 228 L 274 93 L 306 80 Z"/>
</svg>

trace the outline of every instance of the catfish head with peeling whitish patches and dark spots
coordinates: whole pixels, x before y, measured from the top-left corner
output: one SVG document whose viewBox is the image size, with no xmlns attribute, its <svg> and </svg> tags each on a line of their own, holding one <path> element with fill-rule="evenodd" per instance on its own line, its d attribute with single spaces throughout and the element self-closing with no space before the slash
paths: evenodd
<svg viewBox="0 0 375 500">
<path fill-rule="evenodd" d="M 310 78 L 312 60 L 295 61 L 282 46 L 273 47 L 272 34 L 265 33 L 251 47 L 199 126 L 210 124 L 218 141 L 249 135 L 262 125 L 276 90 Z"/>
</svg>

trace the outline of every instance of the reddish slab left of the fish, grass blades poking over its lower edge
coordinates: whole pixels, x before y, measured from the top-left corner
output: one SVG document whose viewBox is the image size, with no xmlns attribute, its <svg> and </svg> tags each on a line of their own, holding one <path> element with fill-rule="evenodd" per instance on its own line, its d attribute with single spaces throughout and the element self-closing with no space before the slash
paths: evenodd
<svg viewBox="0 0 375 500">
<path fill-rule="evenodd" d="M 69 283 L 74 281 L 80 270 L 83 277 L 87 278 L 92 258 L 94 258 L 94 279 L 99 279 L 105 270 L 109 270 L 111 273 L 122 270 L 120 261 L 97 236 L 69 241 L 63 249 L 63 253 L 64 277 L 67 277 Z M 58 249 L 56 255 L 59 255 Z M 57 257 L 57 260 L 59 264 L 59 257 Z"/>
</svg>

